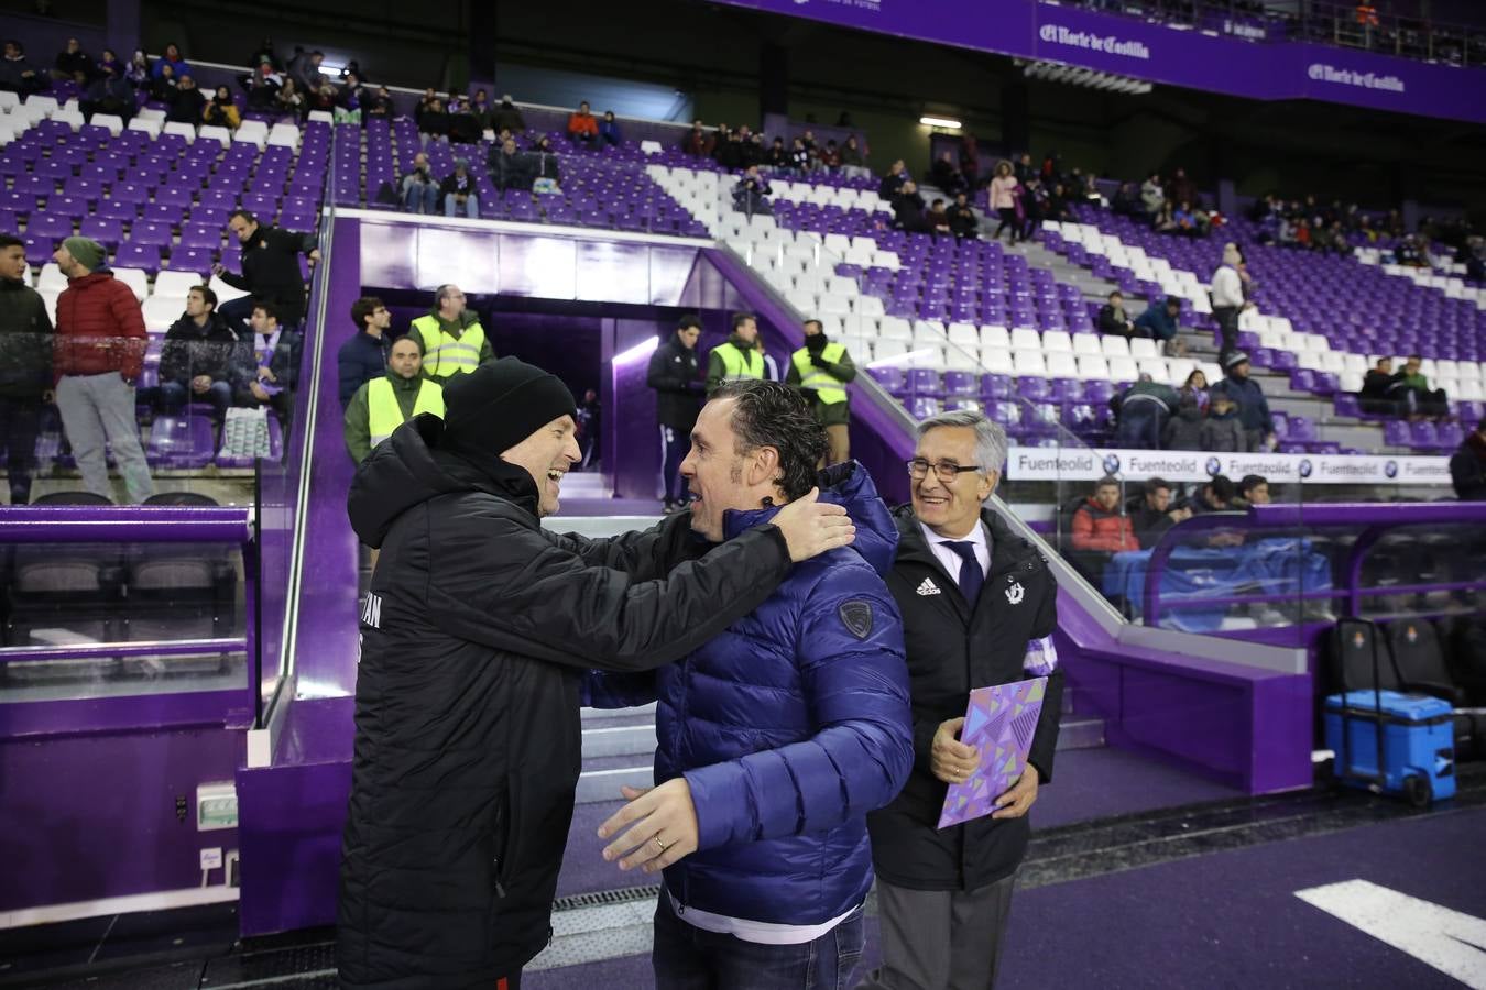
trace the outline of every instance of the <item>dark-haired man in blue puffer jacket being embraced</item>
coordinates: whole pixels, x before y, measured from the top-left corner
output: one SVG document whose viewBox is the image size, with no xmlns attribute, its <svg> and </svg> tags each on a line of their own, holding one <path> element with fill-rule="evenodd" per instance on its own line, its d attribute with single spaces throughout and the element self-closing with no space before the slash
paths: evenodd
<svg viewBox="0 0 1486 990">
<path fill-rule="evenodd" d="M 721 543 L 810 497 L 825 430 L 777 381 L 706 405 L 682 463 L 691 528 Z M 655 984 L 851 986 L 872 886 L 866 813 L 902 790 L 912 718 L 902 620 L 881 577 L 898 531 L 860 465 L 820 475 L 851 548 L 796 567 L 753 613 L 678 663 L 590 675 L 590 704 L 658 699 L 655 788 L 599 834 L 620 868 L 664 870 Z"/>
</svg>

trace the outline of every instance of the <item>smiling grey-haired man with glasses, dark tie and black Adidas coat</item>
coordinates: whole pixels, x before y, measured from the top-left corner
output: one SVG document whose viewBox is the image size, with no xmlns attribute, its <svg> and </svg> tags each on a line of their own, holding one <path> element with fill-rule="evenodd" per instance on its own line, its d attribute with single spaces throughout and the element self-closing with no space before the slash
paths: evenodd
<svg viewBox="0 0 1486 990">
<path fill-rule="evenodd" d="M 979 413 L 918 424 L 908 462 L 912 503 L 895 511 L 898 558 L 887 588 L 903 614 L 914 770 L 898 799 L 868 815 L 883 966 L 860 987 L 972 990 L 996 983 L 1027 809 L 1052 779 L 1062 669 L 1052 631 L 1058 586 L 1048 561 L 984 503 L 1006 459 L 1006 432 Z M 1048 677 L 1027 769 L 1000 810 L 938 828 L 948 784 L 979 751 L 958 741 L 970 689 Z"/>
</svg>

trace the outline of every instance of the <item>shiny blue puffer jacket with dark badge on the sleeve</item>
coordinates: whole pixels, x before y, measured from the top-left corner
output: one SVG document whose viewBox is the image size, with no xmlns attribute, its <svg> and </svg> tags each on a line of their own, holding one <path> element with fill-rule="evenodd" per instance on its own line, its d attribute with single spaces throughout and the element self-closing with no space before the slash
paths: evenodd
<svg viewBox="0 0 1486 990">
<path fill-rule="evenodd" d="M 590 677 L 596 705 L 660 702 L 655 782 L 684 775 L 700 827 L 666 870 L 682 905 L 779 925 L 844 914 L 872 886 L 866 813 L 912 769 L 902 619 L 880 577 L 898 530 L 860 465 L 826 481 L 820 499 L 856 522 L 850 549 L 798 564 L 716 640 L 639 675 L 649 690 Z M 730 512 L 728 539 L 774 512 Z"/>
</svg>

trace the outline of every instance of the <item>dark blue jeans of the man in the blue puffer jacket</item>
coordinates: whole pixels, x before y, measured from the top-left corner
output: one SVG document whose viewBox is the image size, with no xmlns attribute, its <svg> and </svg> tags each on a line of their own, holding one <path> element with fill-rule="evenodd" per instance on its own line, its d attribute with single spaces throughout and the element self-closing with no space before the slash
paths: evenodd
<svg viewBox="0 0 1486 990">
<path fill-rule="evenodd" d="M 688 925 L 661 888 L 651 965 L 657 990 L 847 990 L 865 944 L 863 908 L 813 943 L 764 945 Z"/>
</svg>

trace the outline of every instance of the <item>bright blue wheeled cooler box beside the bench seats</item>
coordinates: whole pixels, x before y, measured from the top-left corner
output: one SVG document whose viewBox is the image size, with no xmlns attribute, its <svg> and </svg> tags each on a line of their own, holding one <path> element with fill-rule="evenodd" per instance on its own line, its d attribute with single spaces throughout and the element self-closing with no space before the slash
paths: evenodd
<svg viewBox="0 0 1486 990">
<path fill-rule="evenodd" d="M 1378 766 L 1379 698 L 1383 766 Z M 1342 707 L 1346 705 L 1346 745 Z M 1326 745 L 1336 775 L 1352 787 L 1378 785 L 1416 804 L 1455 797 L 1455 726 L 1449 702 L 1425 695 L 1357 690 L 1326 699 Z M 1410 778 L 1418 778 L 1410 782 Z M 1428 785 L 1428 787 L 1425 787 Z"/>
</svg>

